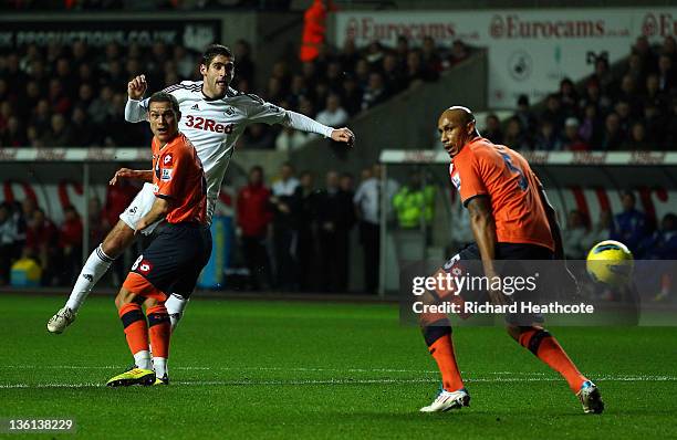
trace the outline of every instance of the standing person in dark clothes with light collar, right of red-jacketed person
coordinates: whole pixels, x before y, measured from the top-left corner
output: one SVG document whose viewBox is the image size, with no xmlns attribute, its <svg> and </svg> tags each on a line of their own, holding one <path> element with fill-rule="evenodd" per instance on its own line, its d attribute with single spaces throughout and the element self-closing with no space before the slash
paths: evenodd
<svg viewBox="0 0 677 440">
<path fill-rule="evenodd" d="M 282 165 L 280 179 L 272 187 L 273 248 L 275 255 L 275 284 L 278 289 L 293 291 L 296 281 L 296 216 L 299 200 L 295 197 L 299 179 L 290 163 Z"/>
</svg>

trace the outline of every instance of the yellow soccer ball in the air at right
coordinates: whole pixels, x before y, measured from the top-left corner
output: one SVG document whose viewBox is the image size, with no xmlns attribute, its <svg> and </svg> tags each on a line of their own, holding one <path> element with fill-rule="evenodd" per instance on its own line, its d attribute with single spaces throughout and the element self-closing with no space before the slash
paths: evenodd
<svg viewBox="0 0 677 440">
<path fill-rule="evenodd" d="M 590 250 L 585 264 L 587 274 L 594 282 L 615 287 L 631 281 L 634 266 L 633 253 L 625 244 L 614 240 L 595 244 Z"/>
</svg>

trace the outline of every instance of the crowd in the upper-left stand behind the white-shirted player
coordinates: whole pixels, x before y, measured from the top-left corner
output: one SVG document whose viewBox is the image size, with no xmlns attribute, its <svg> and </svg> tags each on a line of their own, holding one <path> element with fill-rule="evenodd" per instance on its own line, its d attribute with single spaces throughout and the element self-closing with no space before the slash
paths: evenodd
<svg viewBox="0 0 677 440">
<path fill-rule="evenodd" d="M 256 64 L 247 41 L 236 42 L 232 86 L 254 93 Z M 341 51 L 323 45 L 313 62 L 290 69 L 279 61 L 261 95 L 288 109 L 340 126 L 420 82 L 435 81 L 444 69 L 465 60 L 468 48 L 457 41 L 442 52 L 431 38 L 420 48 L 400 38 L 386 50 L 374 42 L 357 50 L 347 41 Z M 124 121 L 126 84 L 145 73 L 152 87 L 163 88 L 199 77 L 198 57 L 186 48 L 156 42 L 149 48 L 110 43 L 103 49 L 77 41 L 65 48 L 37 44 L 0 53 L 0 147 L 144 146 L 149 130 Z M 248 148 L 298 148 L 304 134 L 280 127 L 250 127 L 241 143 Z"/>
</svg>

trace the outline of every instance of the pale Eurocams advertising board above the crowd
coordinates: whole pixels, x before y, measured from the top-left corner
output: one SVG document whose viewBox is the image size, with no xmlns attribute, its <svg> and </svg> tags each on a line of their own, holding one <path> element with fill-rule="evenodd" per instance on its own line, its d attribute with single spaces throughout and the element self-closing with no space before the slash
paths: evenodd
<svg viewBox="0 0 677 440">
<path fill-rule="evenodd" d="M 611 63 L 627 56 L 638 35 L 658 42 L 675 34 L 677 8 L 338 12 L 334 42 L 394 46 L 398 35 L 416 43 L 430 35 L 442 46 L 462 40 L 487 48 L 489 106 L 513 108 L 520 94 L 538 102 L 563 77 L 591 74 L 600 56 Z"/>
</svg>

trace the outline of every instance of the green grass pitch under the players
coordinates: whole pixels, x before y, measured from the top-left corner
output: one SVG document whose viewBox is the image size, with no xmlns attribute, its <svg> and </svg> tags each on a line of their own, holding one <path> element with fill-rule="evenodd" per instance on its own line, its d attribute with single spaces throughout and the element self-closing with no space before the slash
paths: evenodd
<svg viewBox="0 0 677 440">
<path fill-rule="evenodd" d="M 677 437 L 677 328 L 550 328 L 600 386 L 602 416 L 501 328 L 458 328 L 471 406 L 423 415 L 438 375 L 395 305 L 198 296 L 173 339 L 173 384 L 111 389 L 131 363 L 113 300 L 91 297 L 51 335 L 62 304 L 0 294 L 0 418 L 74 418 L 75 437 L 121 439 Z"/>
</svg>

